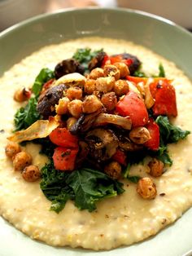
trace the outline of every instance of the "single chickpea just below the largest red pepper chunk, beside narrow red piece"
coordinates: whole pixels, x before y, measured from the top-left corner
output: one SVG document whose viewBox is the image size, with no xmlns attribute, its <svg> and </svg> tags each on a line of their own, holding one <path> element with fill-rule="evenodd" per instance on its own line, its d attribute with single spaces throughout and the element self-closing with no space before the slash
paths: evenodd
<svg viewBox="0 0 192 256">
<path fill-rule="evenodd" d="M 136 144 L 144 144 L 151 139 L 149 130 L 146 127 L 135 127 L 129 132 L 129 138 Z"/>
</svg>

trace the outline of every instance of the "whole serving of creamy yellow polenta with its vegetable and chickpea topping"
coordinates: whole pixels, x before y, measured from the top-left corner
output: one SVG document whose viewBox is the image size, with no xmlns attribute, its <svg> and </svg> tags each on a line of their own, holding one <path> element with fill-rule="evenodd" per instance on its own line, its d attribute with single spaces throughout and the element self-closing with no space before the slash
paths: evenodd
<svg viewBox="0 0 192 256">
<path fill-rule="evenodd" d="M 132 42 L 81 38 L 0 81 L 0 213 L 28 236 L 112 249 L 192 205 L 192 85 L 175 64 Z"/>
</svg>

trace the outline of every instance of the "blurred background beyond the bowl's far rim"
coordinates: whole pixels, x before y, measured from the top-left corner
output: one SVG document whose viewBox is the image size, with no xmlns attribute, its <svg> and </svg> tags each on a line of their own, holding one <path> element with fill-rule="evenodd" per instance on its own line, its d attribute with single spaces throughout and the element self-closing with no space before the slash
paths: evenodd
<svg viewBox="0 0 192 256">
<path fill-rule="evenodd" d="M 147 11 L 192 29 L 192 0 L 0 0 L 0 31 L 34 15 L 89 6 Z"/>
</svg>

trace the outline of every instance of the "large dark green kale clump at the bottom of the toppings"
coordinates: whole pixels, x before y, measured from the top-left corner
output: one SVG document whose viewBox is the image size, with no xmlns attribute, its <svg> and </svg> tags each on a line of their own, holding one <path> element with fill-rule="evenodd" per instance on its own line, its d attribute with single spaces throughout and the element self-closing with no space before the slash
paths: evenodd
<svg viewBox="0 0 192 256">
<path fill-rule="evenodd" d="M 41 190 L 52 201 L 50 210 L 59 213 L 71 199 L 80 210 L 96 209 L 96 202 L 124 192 L 122 183 L 98 170 L 82 168 L 72 173 L 55 170 L 53 163 L 41 170 Z"/>
</svg>

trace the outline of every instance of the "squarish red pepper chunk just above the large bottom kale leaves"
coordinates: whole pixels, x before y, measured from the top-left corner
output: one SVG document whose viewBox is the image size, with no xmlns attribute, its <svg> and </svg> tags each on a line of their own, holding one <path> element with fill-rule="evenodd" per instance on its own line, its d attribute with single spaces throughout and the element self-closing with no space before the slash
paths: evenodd
<svg viewBox="0 0 192 256">
<path fill-rule="evenodd" d="M 78 148 L 55 148 L 53 155 L 56 170 L 74 170 Z"/>
</svg>

